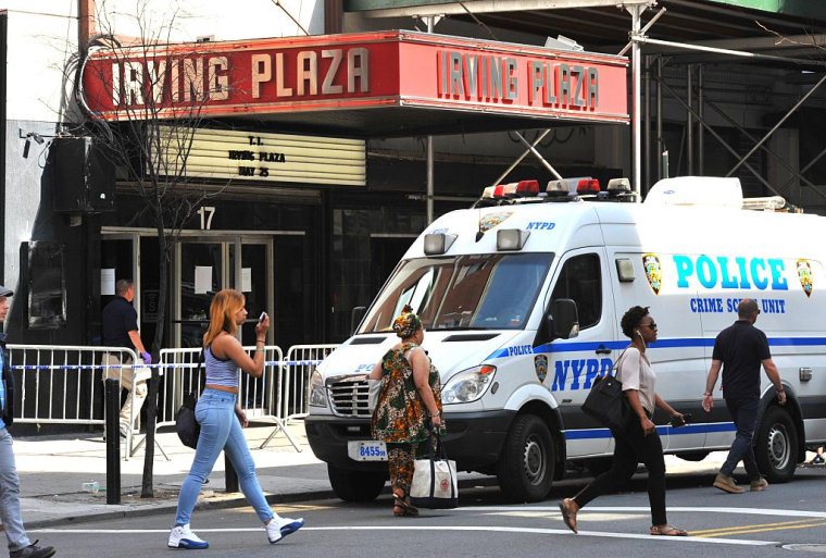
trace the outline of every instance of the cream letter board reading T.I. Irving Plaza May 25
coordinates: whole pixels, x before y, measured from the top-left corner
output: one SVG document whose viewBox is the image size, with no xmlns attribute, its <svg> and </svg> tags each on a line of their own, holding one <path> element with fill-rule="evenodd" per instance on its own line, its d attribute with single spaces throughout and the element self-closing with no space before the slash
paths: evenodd
<svg viewBox="0 0 826 558">
<path fill-rule="evenodd" d="M 200 128 L 190 138 L 161 127 L 162 169 L 217 179 L 364 186 L 363 139 Z"/>
</svg>

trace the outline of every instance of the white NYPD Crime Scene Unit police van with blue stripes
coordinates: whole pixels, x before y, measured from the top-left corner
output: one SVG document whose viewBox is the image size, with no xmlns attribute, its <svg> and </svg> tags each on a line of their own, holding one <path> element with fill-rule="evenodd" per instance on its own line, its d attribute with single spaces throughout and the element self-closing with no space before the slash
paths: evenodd
<svg viewBox="0 0 826 558">
<path fill-rule="evenodd" d="M 496 474 L 509 498 L 537 501 L 566 462 L 610 462 L 610 431 L 580 406 L 628 345 L 620 319 L 635 305 L 659 325 L 648 350 L 658 394 L 693 416 L 680 429 L 654 416 L 665 451 L 699 460 L 728 448 L 722 392 L 710 413 L 701 400 L 714 338 L 754 298 L 788 396 L 779 406 L 762 376 L 754 447 L 769 482 L 789 480 L 806 447 L 826 442 L 826 218 L 743 199 L 736 178 L 664 179 L 636 201 L 626 179 L 523 181 L 430 224 L 312 373 L 306 434 L 336 494 L 372 499 L 387 479 L 366 374 L 398 342 L 391 324 L 406 303 L 441 374 L 448 455 Z"/>
</svg>

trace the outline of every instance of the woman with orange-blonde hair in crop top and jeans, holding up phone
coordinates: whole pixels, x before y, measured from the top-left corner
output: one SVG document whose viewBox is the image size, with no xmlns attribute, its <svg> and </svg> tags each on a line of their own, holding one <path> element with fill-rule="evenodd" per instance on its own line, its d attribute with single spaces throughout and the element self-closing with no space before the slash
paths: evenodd
<svg viewBox="0 0 826 558">
<path fill-rule="evenodd" d="M 264 339 L 270 327 L 270 317 L 263 314 L 255 326 L 255 354 L 250 358 L 235 336 L 238 326 L 247 320 L 246 303 L 241 293 L 225 288 L 215 295 L 210 305 L 210 327 L 203 336 L 203 350 L 212 358 L 205 359 L 206 385 L 195 408 L 201 434 L 192 467 L 180 486 L 175 525 L 166 543 L 171 548 L 210 546 L 189 528 L 189 518 L 203 481 L 222 450 L 238 473 L 241 491 L 264 523 L 271 544 L 295 533 L 304 524 L 303 519 L 281 518 L 270 508 L 255 476 L 255 462 L 250 455 L 247 438 L 241 431 L 242 426 L 247 426 L 247 417 L 237 401 L 238 384 L 231 376 L 240 368 L 253 377 L 261 377 L 264 372 Z"/>
</svg>

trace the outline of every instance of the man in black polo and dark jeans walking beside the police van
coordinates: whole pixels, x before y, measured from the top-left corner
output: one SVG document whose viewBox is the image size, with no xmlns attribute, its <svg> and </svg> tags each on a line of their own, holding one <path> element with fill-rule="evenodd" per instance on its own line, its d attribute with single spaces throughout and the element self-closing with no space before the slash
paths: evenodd
<svg viewBox="0 0 826 558">
<path fill-rule="evenodd" d="M 768 486 L 766 480 L 760 476 L 758 462 L 754 459 L 754 448 L 751 445 L 760 406 L 761 364 L 777 390 L 778 402 L 786 405 L 786 392 L 783 389 L 777 367 L 772 360 L 766 334 L 754 327 L 759 313 L 758 303 L 751 298 L 740 301 L 737 307 L 739 319 L 734 325 L 719 332 L 714 342 L 711 370 L 703 394 L 703 409 L 709 412 L 714 405 L 712 390 L 714 384 L 717 383 L 717 374 L 722 365 L 723 398 L 737 426 L 737 434 L 728 451 L 728 458 L 714 480 L 714 487 L 730 494 L 746 492 L 744 488 L 737 486 L 731 478 L 740 460 L 751 481 L 752 492 L 763 491 Z"/>
</svg>

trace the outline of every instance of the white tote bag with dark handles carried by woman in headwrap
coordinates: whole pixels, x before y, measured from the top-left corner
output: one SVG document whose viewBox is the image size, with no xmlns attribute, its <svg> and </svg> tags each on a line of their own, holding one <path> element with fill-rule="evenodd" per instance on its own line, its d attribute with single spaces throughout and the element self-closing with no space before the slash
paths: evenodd
<svg viewBox="0 0 826 558">
<path fill-rule="evenodd" d="M 433 439 L 433 438 L 431 438 Z M 433 448 L 433 443 L 428 442 Z M 448 459 L 436 434 L 436 454 L 427 459 L 416 459 L 413 482 L 410 485 L 410 503 L 420 508 L 450 509 L 459 506 L 456 462 Z"/>
</svg>

